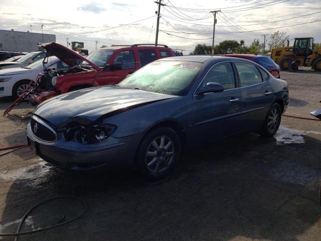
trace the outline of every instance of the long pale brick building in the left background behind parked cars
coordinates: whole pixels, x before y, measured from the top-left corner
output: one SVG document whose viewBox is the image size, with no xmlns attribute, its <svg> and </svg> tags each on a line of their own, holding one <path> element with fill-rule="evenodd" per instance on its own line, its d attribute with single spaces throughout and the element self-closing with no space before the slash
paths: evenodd
<svg viewBox="0 0 321 241">
<path fill-rule="evenodd" d="M 55 42 L 56 35 L 0 30 L 0 50 L 33 52 L 38 43 Z"/>
</svg>

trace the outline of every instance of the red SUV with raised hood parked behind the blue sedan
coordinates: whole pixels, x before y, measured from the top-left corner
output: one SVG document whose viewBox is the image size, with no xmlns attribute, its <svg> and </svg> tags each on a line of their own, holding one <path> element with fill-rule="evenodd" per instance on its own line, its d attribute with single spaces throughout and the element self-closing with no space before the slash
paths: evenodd
<svg viewBox="0 0 321 241">
<path fill-rule="evenodd" d="M 48 54 L 57 56 L 68 68 L 48 68 L 38 76 L 37 87 L 30 95 L 34 104 L 73 90 L 119 83 L 128 74 L 156 59 L 175 56 L 167 45 L 111 46 L 97 49 L 87 58 L 56 42 L 39 46 Z"/>
</svg>

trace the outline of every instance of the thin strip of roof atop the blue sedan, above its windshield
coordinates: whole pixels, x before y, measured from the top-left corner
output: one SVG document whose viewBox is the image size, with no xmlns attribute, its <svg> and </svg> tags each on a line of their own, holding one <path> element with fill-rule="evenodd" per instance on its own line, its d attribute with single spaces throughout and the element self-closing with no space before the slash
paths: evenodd
<svg viewBox="0 0 321 241">
<path fill-rule="evenodd" d="M 192 61 L 192 62 L 222 62 L 222 61 L 231 61 L 231 60 L 240 60 L 239 58 L 229 57 L 229 56 L 210 56 L 210 55 L 185 55 L 185 56 L 176 56 L 176 57 L 168 57 L 163 59 L 158 59 L 155 61 L 170 61 L 170 60 L 181 60 L 181 61 Z M 243 59 L 248 61 L 246 59 Z M 252 61 L 248 61 L 252 62 Z"/>
</svg>

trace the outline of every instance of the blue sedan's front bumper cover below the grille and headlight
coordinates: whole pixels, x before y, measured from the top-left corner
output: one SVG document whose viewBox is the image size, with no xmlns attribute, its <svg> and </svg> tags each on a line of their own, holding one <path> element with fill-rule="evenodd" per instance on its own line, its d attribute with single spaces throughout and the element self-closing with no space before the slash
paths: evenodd
<svg viewBox="0 0 321 241">
<path fill-rule="evenodd" d="M 89 171 L 110 170 L 116 168 L 132 168 L 135 154 L 143 134 L 123 138 L 109 137 L 106 144 L 83 145 L 66 142 L 63 134 L 58 134 L 56 142 L 48 143 L 39 140 L 27 126 L 29 146 L 36 150 L 37 155 L 49 164 L 63 170 Z"/>
</svg>

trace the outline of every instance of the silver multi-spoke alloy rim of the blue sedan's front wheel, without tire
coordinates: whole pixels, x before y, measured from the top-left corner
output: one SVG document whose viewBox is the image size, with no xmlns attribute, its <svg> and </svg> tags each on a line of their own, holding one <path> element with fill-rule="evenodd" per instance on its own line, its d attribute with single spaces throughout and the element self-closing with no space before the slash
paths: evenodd
<svg viewBox="0 0 321 241">
<path fill-rule="evenodd" d="M 148 146 L 145 161 L 152 173 L 164 172 L 175 158 L 174 142 L 168 136 L 156 137 Z"/>
</svg>

